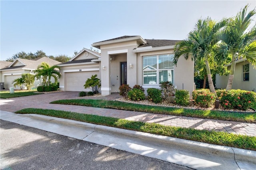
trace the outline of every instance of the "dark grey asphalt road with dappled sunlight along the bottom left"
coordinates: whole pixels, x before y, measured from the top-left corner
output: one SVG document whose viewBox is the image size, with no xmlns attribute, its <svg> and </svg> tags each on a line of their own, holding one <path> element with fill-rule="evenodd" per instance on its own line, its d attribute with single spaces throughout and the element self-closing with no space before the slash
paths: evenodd
<svg viewBox="0 0 256 170">
<path fill-rule="evenodd" d="M 190 168 L 0 120 L 0 169 L 188 170 Z"/>
</svg>

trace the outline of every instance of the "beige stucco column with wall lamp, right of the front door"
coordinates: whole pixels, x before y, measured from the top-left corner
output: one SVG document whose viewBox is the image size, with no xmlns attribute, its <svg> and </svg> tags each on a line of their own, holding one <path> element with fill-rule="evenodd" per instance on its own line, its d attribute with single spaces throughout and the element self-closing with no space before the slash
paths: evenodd
<svg viewBox="0 0 256 170">
<path fill-rule="evenodd" d="M 132 68 L 130 68 L 130 64 L 132 64 Z M 137 84 L 137 55 L 132 50 L 127 52 L 127 84 L 130 87 Z"/>
</svg>

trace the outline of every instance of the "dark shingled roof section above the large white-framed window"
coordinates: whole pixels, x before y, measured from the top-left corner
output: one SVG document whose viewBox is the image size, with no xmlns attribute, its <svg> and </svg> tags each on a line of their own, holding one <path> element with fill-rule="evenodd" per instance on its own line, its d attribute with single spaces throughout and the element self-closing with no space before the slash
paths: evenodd
<svg viewBox="0 0 256 170">
<path fill-rule="evenodd" d="M 149 40 L 149 39 L 145 39 L 146 40 L 146 44 L 140 45 L 139 47 L 163 47 L 163 46 L 170 46 L 170 45 L 175 45 L 177 42 L 180 42 L 180 40 Z"/>
</svg>

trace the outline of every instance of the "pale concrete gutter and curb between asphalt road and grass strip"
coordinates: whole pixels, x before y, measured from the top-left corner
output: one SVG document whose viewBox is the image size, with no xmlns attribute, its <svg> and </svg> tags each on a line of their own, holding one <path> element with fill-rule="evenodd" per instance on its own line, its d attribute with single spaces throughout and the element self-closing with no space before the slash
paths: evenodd
<svg viewBox="0 0 256 170">
<path fill-rule="evenodd" d="M 43 115 L 20 115 L 1 111 L 0 119 L 198 170 L 254 170 L 256 167 L 256 151 L 251 150 L 194 142 Z"/>
</svg>

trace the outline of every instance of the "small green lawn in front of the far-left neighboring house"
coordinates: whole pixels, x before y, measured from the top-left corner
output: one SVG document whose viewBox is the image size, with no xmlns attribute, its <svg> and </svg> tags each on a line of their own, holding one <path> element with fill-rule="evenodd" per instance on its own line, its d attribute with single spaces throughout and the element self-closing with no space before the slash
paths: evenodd
<svg viewBox="0 0 256 170">
<path fill-rule="evenodd" d="M 0 98 L 1 99 L 9 99 L 13 97 L 24 97 L 24 96 L 31 96 L 31 95 L 40 95 L 42 93 L 35 93 L 37 92 L 36 89 L 33 90 L 17 90 L 14 93 L 10 94 L 10 91 L 0 91 Z"/>
</svg>

